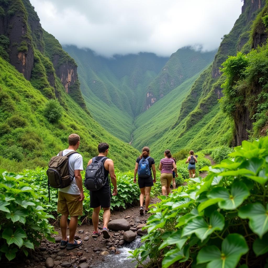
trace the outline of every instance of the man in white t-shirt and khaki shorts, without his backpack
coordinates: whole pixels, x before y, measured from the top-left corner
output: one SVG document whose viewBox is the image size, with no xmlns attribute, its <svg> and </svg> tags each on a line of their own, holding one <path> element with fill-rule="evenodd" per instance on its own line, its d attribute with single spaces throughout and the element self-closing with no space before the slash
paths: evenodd
<svg viewBox="0 0 268 268">
<path fill-rule="evenodd" d="M 66 155 L 71 151 L 76 151 L 80 145 L 80 137 L 71 134 L 68 137 L 69 147 L 62 151 Z M 78 152 L 68 157 L 70 177 L 73 178 L 71 184 L 66 188 L 59 189 L 58 213 L 61 213 L 60 227 L 62 240 L 60 247 L 72 250 L 82 244 L 82 240 L 75 240 L 75 232 L 78 224 L 78 216 L 83 215 L 84 190 L 80 172 L 83 170 L 83 158 Z M 67 219 L 70 215 L 69 237 L 67 237 Z"/>
</svg>

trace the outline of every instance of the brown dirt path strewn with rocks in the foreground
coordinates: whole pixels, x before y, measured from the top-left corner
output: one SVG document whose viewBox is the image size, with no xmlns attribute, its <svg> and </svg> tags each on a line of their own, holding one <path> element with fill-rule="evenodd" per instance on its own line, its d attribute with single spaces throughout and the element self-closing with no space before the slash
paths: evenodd
<svg viewBox="0 0 268 268">
<path fill-rule="evenodd" d="M 157 203 L 158 198 L 151 199 L 151 204 Z M 89 268 L 102 262 L 106 255 L 120 254 L 118 249 L 131 241 L 136 236 L 142 236 L 142 226 L 146 223 L 150 214 L 139 214 L 139 206 L 124 211 L 111 212 L 111 220 L 108 228 L 111 230 L 110 239 L 103 239 L 102 235 L 92 238 L 93 225 L 81 225 L 77 228 L 76 239 L 82 239 L 83 244 L 75 250 L 61 250 L 60 229 L 55 228 L 59 235 L 55 236 L 56 243 L 43 240 L 35 252 L 29 254 L 27 259 L 21 259 L 20 263 L 13 263 L 7 267 L 17 268 Z M 114 222 L 116 220 L 116 222 Z M 102 222 L 99 224 L 102 228 Z M 68 231 L 67 231 L 68 232 Z"/>
</svg>

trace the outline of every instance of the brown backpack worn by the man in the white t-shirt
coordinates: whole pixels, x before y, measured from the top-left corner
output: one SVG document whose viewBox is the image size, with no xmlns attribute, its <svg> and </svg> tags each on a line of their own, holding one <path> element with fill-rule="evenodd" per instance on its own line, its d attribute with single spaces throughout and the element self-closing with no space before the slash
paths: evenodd
<svg viewBox="0 0 268 268">
<path fill-rule="evenodd" d="M 59 152 L 58 156 L 53 156 L 49 161 L 49 168 L 47 169 L 48 188 L 49 188 L 49 201 L 50 201 L 50 187 L 52 188 L 65 188 L 69 186 L 75 177 L 70 177 L 68 157 L 71 154 L 78 154 L 76 151 L 71 151 L 65 156 L 62 155 L 63 151 Z"/>
</svg>

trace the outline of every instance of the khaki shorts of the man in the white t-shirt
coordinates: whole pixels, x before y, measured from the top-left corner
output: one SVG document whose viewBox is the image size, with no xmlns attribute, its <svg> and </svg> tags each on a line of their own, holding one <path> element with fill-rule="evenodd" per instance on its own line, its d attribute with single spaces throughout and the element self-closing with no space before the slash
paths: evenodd
<svg viewBox="0 0 268 268">
<path fill-rule="evenodd" d="M 72 216 L 83 215 L 83 201 L 79 201 L 80 195 L 71 195 L 59 191 L 58 195 L 58 213 L 69 214 Z"/>
</svg>

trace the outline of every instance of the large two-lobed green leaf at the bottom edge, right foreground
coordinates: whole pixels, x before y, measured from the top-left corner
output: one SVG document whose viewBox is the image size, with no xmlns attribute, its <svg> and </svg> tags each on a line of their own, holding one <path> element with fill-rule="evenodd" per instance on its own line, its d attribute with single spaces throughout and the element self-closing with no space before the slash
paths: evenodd
<svg viewBox="0 0 268 268">
<path fill-rule="evenodd" d="M 208 263 L 207 268 L 235 268 L 242 255 L 248 252 L 243 236 L 230 234 L 222 242 L 222 250 L 216 246 L 202 248 L 197 255 L 197 263 Z"/>
</svg>

